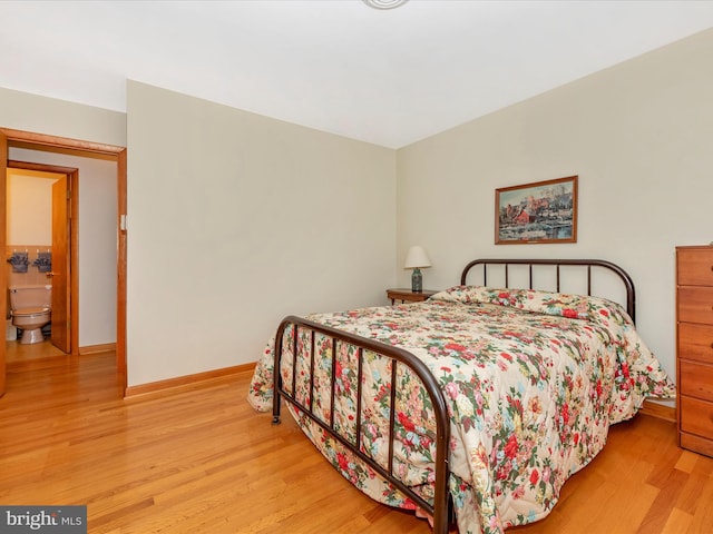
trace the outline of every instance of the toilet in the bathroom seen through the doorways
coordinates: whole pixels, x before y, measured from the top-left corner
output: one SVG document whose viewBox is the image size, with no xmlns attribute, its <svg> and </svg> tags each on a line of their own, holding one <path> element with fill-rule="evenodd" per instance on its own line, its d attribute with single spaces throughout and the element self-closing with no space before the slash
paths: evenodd
<svg viewBox="0 0 713 534">
<path fill-rule="evenodd" d="M 21 344 L 42 343 L 42 327 L 50 322 L 52 286 L 11 286 L 12 324 L 22 329 Z"/>
</svg>

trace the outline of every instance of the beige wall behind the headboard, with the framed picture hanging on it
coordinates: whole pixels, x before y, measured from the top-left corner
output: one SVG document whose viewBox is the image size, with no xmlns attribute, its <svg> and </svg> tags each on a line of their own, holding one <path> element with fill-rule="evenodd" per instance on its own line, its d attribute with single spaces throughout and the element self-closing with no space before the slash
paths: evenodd
<svg viewBox="0 0 713 534">
<path fill-rule="evenodd" d="M 674 247 L 713 240 L 711 65 L 713 30 L 399 150 L 397 266 L 419 243 L 424 286 L 442 288 L 476 257 L 609 259 L 675 376 Z M 494 244 L 496 188 L 572 175 L 577 244 Z"/>
</svg>

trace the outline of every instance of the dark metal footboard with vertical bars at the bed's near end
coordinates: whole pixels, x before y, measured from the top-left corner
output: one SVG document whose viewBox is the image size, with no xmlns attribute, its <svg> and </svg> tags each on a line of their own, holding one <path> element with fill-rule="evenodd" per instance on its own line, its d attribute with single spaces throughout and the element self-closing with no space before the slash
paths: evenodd
<svg viewBox="0 0 713 534">
<path fill-rule="evenodd" d="M 293 344 L 292 347 L 284 347 L 285 340 L 285 330 L 292 327 L 293 335 L 287 337 L 289 340 Z M 315 376 L 315 358 L 314 358 L 314 343 L 315 335 L 323 336 L 328 339 L 328 343 L 332 345 L 332 380 L 331 380 L 331 398 L 332 398 L 332 417 L 331 421 L 324 422 L 322 418 L 313 412 L 313 395 L 314 387 L 313 384 L 310 385 L 309 393 L 306 398 L 299 399 L 294 395 L 295 392 L 295 380 L 296 380 L 296 358 L 297 358 L 297 338 L 299 335 L 307 335 L 307 338 L 311 343 L 310 362 L 306 364 L 309 366 L 310 379 L 313 380 Z M 335 395 L 335 380 L 334 380 L 334 372 L 336 368 L 335 358 L 336 358 L 336 346 L 338 344 L 348 344 L 351 345 L 358 354 L 358 369 L 356 369 L 356 422 L 355 422 L 355 443 L 352 443 L 350 439 L 346 439 L 343 435 L 336 432 L 334 427 L 334 417 L 333 417 L 333 399 Z M 287 350 L 285 350 L 287 348 Z M 423 389 L 427 392 L 430 397 L 431 404 L 433 406 L 433 413 L 436 417 L 436 463 L 434 463 L 434 497 L 433 503 L 429 503 L 421 495 L 414 492 L 411 487 L 407 486 L 403 482 L 401 482 L 393 473 L 393 448 L 394 448 L 394 421 L 395 421 L 395 387 L 391 387 L 390 392 L 390 419 L 389 419 L 389 431 L 387 435 L 388 444 L 389 444 L 389 453 L 388 453 L 388 464 L 387 466 L 380 465 L 372 457 L 364 454 L 361 447 L 361 435 L 362 435 L 362 409 L 361 409 L 361 398 L 362 398 L 362 383 L 363 383 L 363 369 L 362 369 L 362 359 L 363 352 L 369 350 L 373 354 L 378 354 L 382 357 L 390 358 L 397 364 L 391 366 L 391 384 L 397 384 L 397 366 L 404 365 L 407 366 L 411 373 L 418 377 L 421 382 Z M 379 473 L 383 478 L 389 481 L 394 487 L 397 487 L 403 495 L 408 498 L 412 500 L 419 507 L 428 512 L 433 517 L 433 532 L 437 534 L 447 534 L 449 526 L 449 490 L 448 490 L 448 481 L 450 475 L 449 469 L 449 443 L 450 443 L 450 419 L 448 416 L 448 407 L 446 404 L 446 399 L 441 389 L 438 386 L 438 383 L 429 368 L 421 362 L 419 358 L 413 356 L 411 353 L 393 347 L 391 345 L 385 345 L 373 339 L 368 339 L 365 337 L 352 335 L 342 330 L 338 330 L 335 328 L 331 328 L 329 326 L 320 325 L 319 323 L 314 323 L 301 317 L 289 316 L 285 317 L 280 327 L 277 328 L 277 333 L 275 336 L 275 349 L 274 349 L 274 396 L 273 396 L 273 424 L 280 423 L 280 407 L 281 407 L 281 398 L 284 398 L 286 402 L 295 406 L 299 411 L 301 411 L 304 415 L 306 415 L 311 421 L 318 424 L 323 431 L 333 436 L 336 441 L 339 441 L 345 448 L 351 451 L 355 456 L 358 456 L 361 461 L 368 464 L 371 468 L 373 468 L 377 473 Z M 292 380 L 293 384 L 291 387 L 283 387 L 283 380 L 281 376 L 281 362 L 283 357 L 292 357 Z"/>
</svg>

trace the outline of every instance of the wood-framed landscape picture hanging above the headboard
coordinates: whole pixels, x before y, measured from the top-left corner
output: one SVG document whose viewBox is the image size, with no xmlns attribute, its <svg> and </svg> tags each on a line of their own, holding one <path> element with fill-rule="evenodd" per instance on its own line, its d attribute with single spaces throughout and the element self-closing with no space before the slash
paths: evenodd
<svg viewBox="0 0 713 534">
<path fill-rule="evenodd" d="M 577 243 L 577 177 L 495 190 L 495 244 Z"/>
</svg>

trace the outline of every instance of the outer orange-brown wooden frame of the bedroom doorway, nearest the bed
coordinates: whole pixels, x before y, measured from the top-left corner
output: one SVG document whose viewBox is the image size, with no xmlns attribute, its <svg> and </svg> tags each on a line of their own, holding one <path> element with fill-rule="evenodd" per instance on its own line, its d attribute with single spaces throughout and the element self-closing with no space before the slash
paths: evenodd
<svg viewBox="0 0 713 534">
<path fill-rule="evenodd" d="M 126 392 L 126 148 L 56 136 L 0 128 L 0 188 L 6 187 L 8 149 L 29 148 L 42 152 L 71 154 L 86 158 L 105 159 L 116 164 L 117 220 L 116 220 L 116 370 L 121 390 Z M 6 209 L 0 204 L 0 248 L 6 246 Z M 0 291 L 7 293 L 7 277 L 0 269 Z M 0 313 L 7 313 L 6 299 L 0 299 Z M 0 344 L 0 395 L 6 389 L 6 347 Z"/>
</svg>

